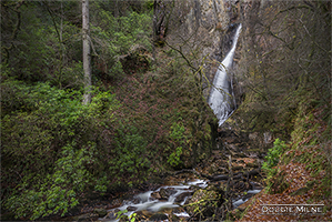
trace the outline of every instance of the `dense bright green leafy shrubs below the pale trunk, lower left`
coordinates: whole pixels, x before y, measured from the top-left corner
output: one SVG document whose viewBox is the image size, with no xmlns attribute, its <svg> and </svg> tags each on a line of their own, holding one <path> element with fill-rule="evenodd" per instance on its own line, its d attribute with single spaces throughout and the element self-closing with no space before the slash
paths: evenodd
<svg viewBox="0 0 332 222">
<path fill-rule="evenodd" d="M 18 218 L 34 220 L 63 215 L 90 186 L 105 192 L 112 175 L 95 171 L 105 162 L 98 135 L 114 121 L 114 95 L 94 91 L 91 104 L 83 105 L 80 92 L 48 83 L 7 80 L 1 87 L 7 92 L 1 125 L 4 205 Z"/>
</svg>

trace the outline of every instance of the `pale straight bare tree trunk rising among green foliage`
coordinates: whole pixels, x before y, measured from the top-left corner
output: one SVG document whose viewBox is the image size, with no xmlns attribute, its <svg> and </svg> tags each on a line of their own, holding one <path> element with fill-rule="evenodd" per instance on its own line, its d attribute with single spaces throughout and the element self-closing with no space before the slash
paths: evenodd
<svg viewBox="0 0 332 222">
<path fill-rule="evenodd" d="M 83 104 L 91 102 L 91 57 L 89 41 L 89 0 L 82 0 L 82 31 L 83 31 L 83 70 L 84 70 L 84 95 Z"/>
</svg>

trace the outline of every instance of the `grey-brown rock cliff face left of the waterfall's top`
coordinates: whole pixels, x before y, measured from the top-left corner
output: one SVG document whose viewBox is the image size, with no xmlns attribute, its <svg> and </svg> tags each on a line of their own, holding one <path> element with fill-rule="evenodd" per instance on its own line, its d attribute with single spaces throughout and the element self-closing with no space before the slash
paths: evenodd
<svg viewBox="0 0 332 222">
<path fill-rule="evenodd" d="M 232 46 L 231 38 L 239 22 L 240 3 L 235 0 L 184 0 L 159 1 L 157 29 L 165 27 L 165 40 L 184 54 L 194 56 L 194 65 L 202 63 L 210 82 L 213 81 L 219 62 Z M 163 33 L 163 30 L 157 30 Z M 162 38 L 163 38 L 162 37 Z M 204 83 L 204 95 L 210 88 Z"/>
</svg>

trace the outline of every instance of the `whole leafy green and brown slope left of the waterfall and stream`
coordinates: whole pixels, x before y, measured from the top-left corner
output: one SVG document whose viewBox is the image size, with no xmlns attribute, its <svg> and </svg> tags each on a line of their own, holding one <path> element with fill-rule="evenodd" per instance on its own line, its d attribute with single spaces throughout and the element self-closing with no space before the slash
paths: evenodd
<svg viewBox="0 0 332 222">
<path fill-rule="evenodd" d="M 123 78 L 121 59 L 137 49 L 152 50 L 153 1 L 118 3 L 118 14 L 113 1 L 90 4 L 97 85 Z M 127 75 L 131 85 L 112 88 L 122 107 L 107 87 L 83 105 L 79 2 L 3 4 L 1 198 L 17 219 L 66 215 L 89 192 L 141 183 L 151 171 L 184 165 L 193 143 L 208 147 L 209 113 L 183 61 Z"/>
</svg>

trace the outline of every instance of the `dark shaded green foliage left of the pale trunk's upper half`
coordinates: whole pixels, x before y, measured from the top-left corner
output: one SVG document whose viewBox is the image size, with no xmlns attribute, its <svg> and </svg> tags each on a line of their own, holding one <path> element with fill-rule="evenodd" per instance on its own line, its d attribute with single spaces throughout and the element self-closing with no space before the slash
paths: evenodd
<svg viewBox="0 0 332 222">
<path fill-rule="evenodd" d="M 72 13 L 71 7 L 76 6 L 76 2 L 63 2 L 67 16 L 68 12 Z M 53 8 L 56 13 L 49 13 L 46 8 Z M 16 39 L 7 39 L 12 30 L 8 26 L 1 26 L 1 33 L 6 37 L 1 39 L 1 43 L 8 40 L 1 47 L 1 52 L 7 54 L 7 64 L 12 68 L 10 77 L 29 83 L 49 81 L 60 88 L 79 89 L 82 85 L 82 64 L 76 59 L 81 50 L 80 29 L 70 20 L 63 20 L 67 18 L 59 9 L 60 2 L 43 6 L 24 2 L 18 10 L 20 19 L 8 18 L 9 23 L 19 24 Z M 6 7 L 1 12 L 7 17 L 11 10 Z M 10 42 L 12 46 L 4 50 Z"/>
</svg>

